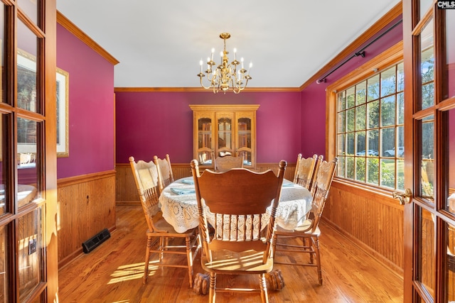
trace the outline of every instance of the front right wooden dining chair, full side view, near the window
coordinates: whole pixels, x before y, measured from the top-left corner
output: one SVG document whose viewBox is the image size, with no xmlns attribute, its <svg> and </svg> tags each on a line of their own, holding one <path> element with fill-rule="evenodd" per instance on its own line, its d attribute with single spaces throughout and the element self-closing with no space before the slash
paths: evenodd
<svg viewBox="0 0 455 303">
<path fill-rule="evenodd" d="M 314 193 L 311 210 L 307 214 L 306 220 L 293 231 L 279 226 L 277 227 L 277 231 L 274 233 L 274 243 L 276 245 L 274 252 L 282 252 L 280 253 L 280 258 L 275 258 L 275 263 L 277 264 L 316 267 L 319 284 L 322 285 L 321 254 L 319 251 L 319 236 L 321 235 L 321 230 L 319 229 L 319 221 L 321 220 L 322 211 L 326 204 L 333 175 L 336 171 L 338 158 L 333 158 L 330 162 L 326 162 L 325 160 L 322 160 L 322 158 L 319 158 L 319 161 L 321 162 L 318 165 L 318 171 L 311 187 L 311 192 Z M 296 244 L 295 241 L 298 241 L 298 243 L 301 241 L 301 243 Z M 292 256 L 292 260 L 296 260 L 296 262 L 288 261 L 288 259 L 286 259 L 287 253 L 289 256 Z M 310 256 L 309 263 L 301 261 L 296 253 L 308 253 Z M 315 259 L 316 263 L 314 262 Z"/>
</svg>

